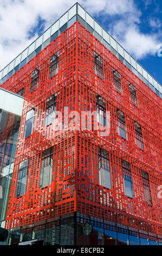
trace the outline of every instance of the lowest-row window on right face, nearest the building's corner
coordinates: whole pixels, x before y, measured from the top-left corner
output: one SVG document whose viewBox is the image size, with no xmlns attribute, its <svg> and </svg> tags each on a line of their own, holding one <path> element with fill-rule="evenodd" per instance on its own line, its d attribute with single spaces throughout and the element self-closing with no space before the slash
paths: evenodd
<svg viewBox="0 0 162 256">
<path fill-rule="evenodd" d="M 111 169 L 108 151 L 99 148 L 99 180 L 100 185 L 111 188 Z"/>
</svg>

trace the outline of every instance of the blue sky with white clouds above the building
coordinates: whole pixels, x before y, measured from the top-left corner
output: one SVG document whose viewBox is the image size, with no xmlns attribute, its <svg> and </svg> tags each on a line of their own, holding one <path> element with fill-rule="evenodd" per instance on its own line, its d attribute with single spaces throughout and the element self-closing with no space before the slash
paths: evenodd
<svg viewBox="0 0 162 256">
<path fill-rule="evenodd" d="M 52 25 L 74 0 L 0 0 L 0 70 Z M 78 1 L 162 84 L 160 0 Z M 160 46 L 161 44 L 161 46 Z"/>
</svg>

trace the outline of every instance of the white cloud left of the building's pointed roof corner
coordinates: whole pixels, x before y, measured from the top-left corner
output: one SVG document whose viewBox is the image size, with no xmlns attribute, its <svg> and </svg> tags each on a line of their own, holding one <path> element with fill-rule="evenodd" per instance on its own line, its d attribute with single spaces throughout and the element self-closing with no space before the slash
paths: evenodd
<svg viewBox="0 0 162 256">
<path fill-rule="evenodd" d="M 14 59 L 37 37 L 28 39 L 29 32 L 37 25 L 38 17 L 45 20 L 45 29 L 64 14 L 75 0 L 0 0 L 0 70 Z"/>
</svg>

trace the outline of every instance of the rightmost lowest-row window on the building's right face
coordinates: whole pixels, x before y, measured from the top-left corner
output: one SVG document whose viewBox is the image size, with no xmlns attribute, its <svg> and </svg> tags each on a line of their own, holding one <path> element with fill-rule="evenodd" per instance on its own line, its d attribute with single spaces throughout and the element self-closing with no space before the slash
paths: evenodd
<svg viewBox="0 0 162 256">
<path fill-rule="evenodd" d="M 142 184 L 144 187 L 145 201 L 147 204 L 152 205 L 152 196 L 151 196 L 150 181 L 149 181 L 148 173 L 144 172 L 144 170 L 141 170 L 141 176 L 142 176 Z"/>
</svg>

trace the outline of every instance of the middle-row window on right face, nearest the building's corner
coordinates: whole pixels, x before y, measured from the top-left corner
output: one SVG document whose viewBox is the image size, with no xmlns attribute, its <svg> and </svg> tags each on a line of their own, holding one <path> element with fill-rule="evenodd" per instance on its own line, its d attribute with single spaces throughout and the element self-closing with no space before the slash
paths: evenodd
<svg viewBox="0 0 162 256">
<path fill-rule="evenodd" d="M 97 112 L 97 121 L 106 126 L 106 102 L 98 94 L 96 94 L 96 112 Z"/>
</svg>

